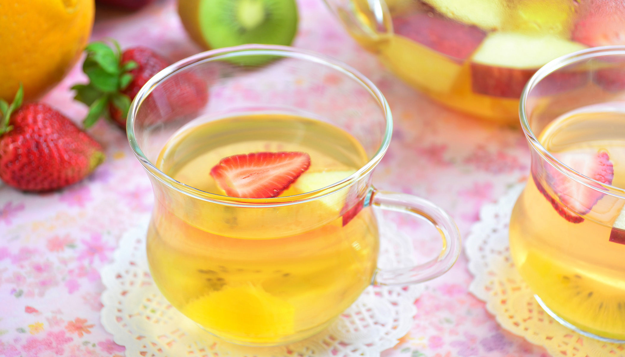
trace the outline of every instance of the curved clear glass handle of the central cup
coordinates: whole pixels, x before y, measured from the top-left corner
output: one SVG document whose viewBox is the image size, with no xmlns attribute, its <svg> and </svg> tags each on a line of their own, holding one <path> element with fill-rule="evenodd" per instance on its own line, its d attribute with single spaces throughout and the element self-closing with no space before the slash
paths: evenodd
<svg viewBox="0 0 625 357">
<path fill-rule="evenodd" d="M 389 211 L 405 212 L 427 219 L 442 238 L 441 253 L 426 263 L 411 268 L 378 269 L 374 284 L 406 285 L 421 283 L 445 273 L 460 254 L 460 232 L 454 220 L 440 207 L 411 194 L 374 190 L 370 204 Z"/>
</svg>

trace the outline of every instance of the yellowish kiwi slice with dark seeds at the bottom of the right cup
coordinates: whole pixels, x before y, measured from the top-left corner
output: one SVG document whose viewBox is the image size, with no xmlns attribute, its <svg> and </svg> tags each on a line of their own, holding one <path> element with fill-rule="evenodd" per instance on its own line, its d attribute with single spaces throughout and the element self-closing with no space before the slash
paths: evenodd
<svg viewBox="0 0 625 357">
<path fill-rule="evenodd" d="M 625 281 L 614 272 L 600 272 L 579 262 L 563 264 L 543 255 L 527 254 L 521 275 L 533 283 L 531 288 L 544 304 L 582 331 L 625 340 Z M 540 286 L 535 286 L 537 281 Z"/>
</svg>

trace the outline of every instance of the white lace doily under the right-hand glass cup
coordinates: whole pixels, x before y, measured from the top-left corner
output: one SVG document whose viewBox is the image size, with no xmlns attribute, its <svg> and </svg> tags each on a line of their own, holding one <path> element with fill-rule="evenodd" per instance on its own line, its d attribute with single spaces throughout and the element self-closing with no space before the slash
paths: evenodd
<svg viewBox="0 0 625 357">
<path fill-rule="evenodd" d="M 582 336 L 559 324 L 539 306 L 509 252 L 508 222 L 525 185 L 512 187 L 497 203 L 485 204 L 471 228 L 465 248 L 474 279 L 469 291 L 511 333 L 544 346 L 553 356 L 625 357 L 625 344 Z"/>
</svg>

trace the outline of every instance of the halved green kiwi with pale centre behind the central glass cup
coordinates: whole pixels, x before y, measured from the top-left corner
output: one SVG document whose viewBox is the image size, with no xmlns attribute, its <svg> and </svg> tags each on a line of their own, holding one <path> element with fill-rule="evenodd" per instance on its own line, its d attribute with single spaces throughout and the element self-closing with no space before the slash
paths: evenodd
<svg viewBox="0 0 625 357">
<path fill-rule="evenodd" d="M 294 0 L 179 0 L 178 13 L 191 38 L 206 49 L 250 43 L 288 46 L 297 32 Z M 242 63 L 268 59 L 259 57 Z"/>
</svg>

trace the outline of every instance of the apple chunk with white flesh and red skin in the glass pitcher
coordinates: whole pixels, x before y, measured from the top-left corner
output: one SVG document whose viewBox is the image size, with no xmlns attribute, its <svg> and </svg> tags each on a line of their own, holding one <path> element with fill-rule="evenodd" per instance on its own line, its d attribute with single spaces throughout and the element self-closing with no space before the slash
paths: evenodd
<svg viewBox="0 0 625 357">
<path fill-rule="evenodd" d="M 554 35 L 492 33 L 477 49 L 471 63 L 472 89 L 490 96 L 517 98 L 527 80 L 552 59 L 586 46 Z M 571 72 L 554 76 L 554 90 L 586 83 L 586 77 Z M 562 84 L 565 83 L 565 84 Z"/>
</svg>

